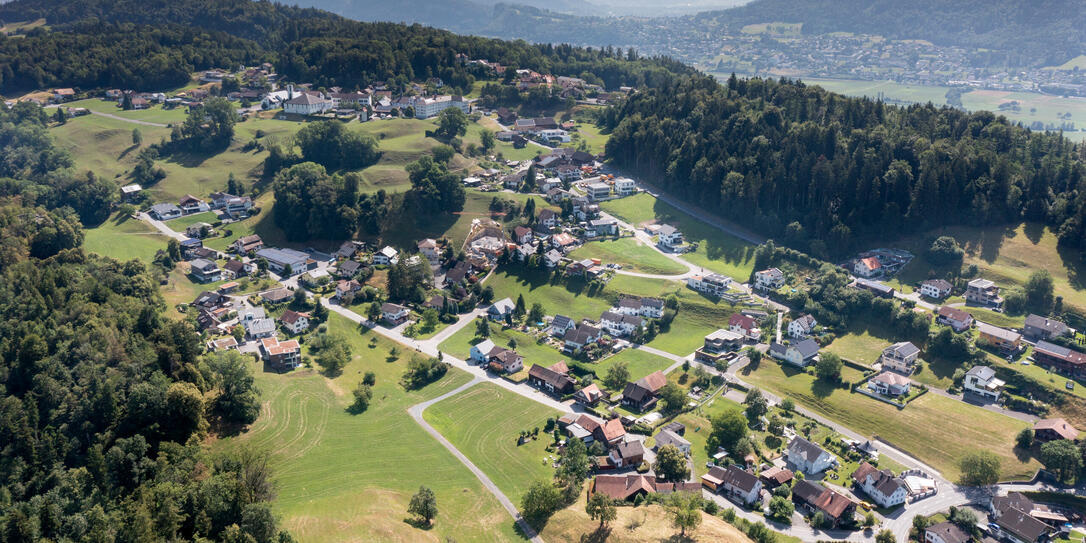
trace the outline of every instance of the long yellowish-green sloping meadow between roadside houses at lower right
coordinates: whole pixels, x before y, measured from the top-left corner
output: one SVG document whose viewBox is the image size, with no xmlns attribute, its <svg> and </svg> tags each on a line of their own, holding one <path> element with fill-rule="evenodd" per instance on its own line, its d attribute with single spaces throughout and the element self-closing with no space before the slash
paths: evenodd
<svg viewBox="0 0 1086 543">
<path fill-rule="evenodd" d="M 855 374 L 855 375 L 854 375 Z M 844 379 L 859 372 L 845 368 Z M 905 409 L 862 394 L 815 381 L 813 376 L 765 361 L 745 368 L 744 379 L 836 420 L 863 435 L 877 435 L 956 480 L 958 460 L 972 451 L 990 451 L 1002 462 L 1002 479 L 1028 478 L 1039 467 L 1018 458 L 1014 437 L 1026 422 L 957 400 L 927 393 Z"/>
</svg>

